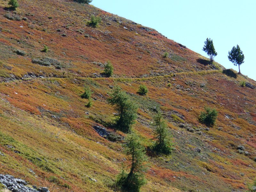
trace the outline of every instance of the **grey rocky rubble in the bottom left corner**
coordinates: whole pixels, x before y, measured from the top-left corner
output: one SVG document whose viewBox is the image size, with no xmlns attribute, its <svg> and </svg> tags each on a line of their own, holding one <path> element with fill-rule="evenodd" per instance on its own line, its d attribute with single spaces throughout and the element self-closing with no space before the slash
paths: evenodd
<svg viewBox="0 0 256 192">
<path fill-rule="evenodd" d="M 0 183 L 2 183 L 4 187 L 13 192 L 50 192 L 46 187 L 41 187 L 39 189 L 36 189 L 36 187 L 34 189 L 26 187 L 26 181 L 16 179 L 11 175 L 0 174 Z"/>
</svg>

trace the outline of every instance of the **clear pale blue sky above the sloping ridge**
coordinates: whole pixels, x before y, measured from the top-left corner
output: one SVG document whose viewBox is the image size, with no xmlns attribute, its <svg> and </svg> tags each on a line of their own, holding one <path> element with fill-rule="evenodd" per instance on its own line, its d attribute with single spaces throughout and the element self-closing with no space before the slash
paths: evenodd
<svg viewBox="0 0 256 192">
<path fill-rule="evenodd" d="M 245 58 L 241 73 L 256 80 L 256 0 L 93 0 L 91 4 L 154 28 L 205 57 L 204 41 L 211 38 L 218 53 L 214 60 L 236 71 L 228 51 L 238 44 Z"/>
</svg>

